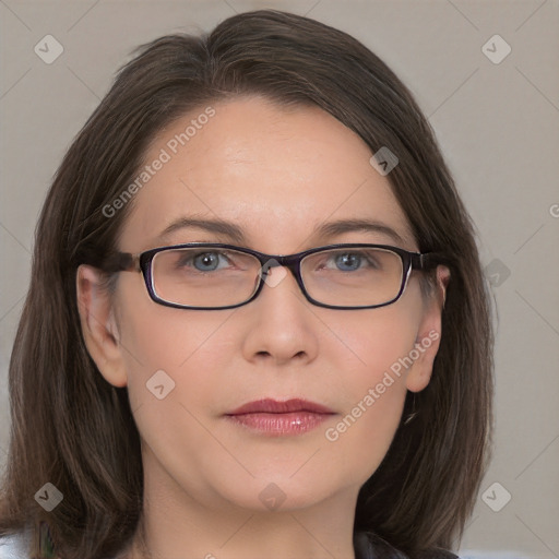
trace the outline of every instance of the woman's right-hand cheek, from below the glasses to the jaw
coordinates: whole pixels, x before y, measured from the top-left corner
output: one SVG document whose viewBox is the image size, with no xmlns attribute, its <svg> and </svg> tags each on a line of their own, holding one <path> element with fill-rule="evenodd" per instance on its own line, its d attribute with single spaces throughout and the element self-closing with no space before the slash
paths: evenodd
<svg viewBox="0 0 559 559">
<path fill-rule="evenodd" d="M 344 404 L 342 416 L 324 435 L 336 456 L 352 456 L 350 467 L 361 483 L 379 466 L 400 425 L 407 393 L 406 358 L 414 348 L 418 317 L 413 307 L 394 305 L 336 325 L 346 347 L 340 345 L 329 355 L 344 378 Z"/>
</svg>

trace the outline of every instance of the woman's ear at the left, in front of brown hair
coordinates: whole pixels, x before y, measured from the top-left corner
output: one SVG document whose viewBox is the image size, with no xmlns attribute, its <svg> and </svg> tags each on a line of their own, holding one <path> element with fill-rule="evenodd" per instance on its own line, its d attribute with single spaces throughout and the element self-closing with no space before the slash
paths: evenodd
<svg viewBox="0 0 559 559">
<path fill-rule="evenodd" d="M 102 272 L 82 264 L 78 267 L 76 297 L 85 345 L 105 380 L 115 386 L 127 385 L 120 336 L 110 295 L 103 288 Z"/>
</svg>

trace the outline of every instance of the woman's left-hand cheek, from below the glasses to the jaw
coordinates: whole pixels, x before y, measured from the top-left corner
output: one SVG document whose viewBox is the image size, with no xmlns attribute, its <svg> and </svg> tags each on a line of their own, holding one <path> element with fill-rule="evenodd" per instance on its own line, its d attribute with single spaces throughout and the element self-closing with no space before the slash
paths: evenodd
<svg viewBox="0 0 559 559">
<path fill-rule="evenodd" d="M 209 417 L 223 412 L 221 372 L 228 370 L 233 348 L 221 329 L 234 310 L 200 313 L 153 304 L 145 311 L 129 306 L 122 317 L 134 421 L 157 463 L 181 484 L 192 476 L 203 487 L 192 472 L 215 467 L 215 456 L 229 459 L 207 427 Z M 233 460 L 227 464 L 236 466 Z M 191 489 L 201 490 L 198 485 Z"/>
</svg>

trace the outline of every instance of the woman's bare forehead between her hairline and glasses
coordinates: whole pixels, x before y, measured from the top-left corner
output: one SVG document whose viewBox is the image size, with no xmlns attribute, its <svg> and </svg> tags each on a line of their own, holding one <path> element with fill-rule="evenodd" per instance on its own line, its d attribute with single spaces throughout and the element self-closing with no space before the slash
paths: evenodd
<svg viewBox="0 0 559 559">
<path fill-rule="evenodd" d="M 245 243 L 262 251 L 316 246 L 318 228 L 342 219 L 382 223 L 413 250 L 407 219 L 370 157 L 357 134 L 317 107 L 287 109 L 262 97 L 202 106 L 152 142 L 148 177 L 132 201 L 121 246 L 151 248 L 170 224 L 195 216 L 234 223 Z M 176 228 L 169 241 L 225 240 L 194 233 Z M 361 239 L 390 240 L 355 240 Z"/>
</svg>

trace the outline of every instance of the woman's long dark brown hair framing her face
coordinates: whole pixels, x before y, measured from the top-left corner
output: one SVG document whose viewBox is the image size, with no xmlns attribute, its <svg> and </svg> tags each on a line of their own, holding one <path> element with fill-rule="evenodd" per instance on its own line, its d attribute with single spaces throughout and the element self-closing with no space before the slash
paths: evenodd
<svg viewBox="0 0 559 559">
<path fill-rule="evenodd" d="M 78 313 L 79 264 L 103 267 L 130 211 L 110 204 L 135 177 L 150 142 L 183 114 L 242 94 L 312 104 L 388 146 L 389 179 L 420 251 L 451 270 L 429 385 L 408 394 L 392 445 L 358 497 L 355 531 L 411 556 L 451 547 L 472 512 L 491 425 L 490 300 L 474 227 L 408 90 L 349 35 L 277 11 L 235 15 L 202 37 L 169 35 L 141 48 L 69 148 L 36 229 L 31 287 L 10 362 L 12 414 L 0 533 L 47 521 L 64 558 L 112 556 L 142 510 L 140 437 L 126 388 L 104 380 Z M 428 281 L 432 285 L 432 276 Z M 62 502 L 34 495 L 50 481 Z M 36 528 L 35 528 L 36 530 Z"/>
</svg>

